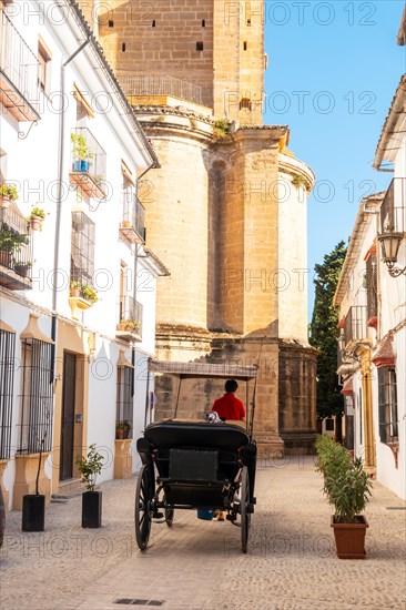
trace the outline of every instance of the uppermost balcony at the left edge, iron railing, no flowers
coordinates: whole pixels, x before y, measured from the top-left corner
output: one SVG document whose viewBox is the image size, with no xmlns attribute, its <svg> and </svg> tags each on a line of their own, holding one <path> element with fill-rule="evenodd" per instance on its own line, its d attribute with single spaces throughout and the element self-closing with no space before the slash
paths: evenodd
<svg viewBox="0 0 406 610">
<path fill-rule="evenodd" d="M 40 118 L 39 65 L 37 55 L 1 11 L 0 102 L 18 121 L 37 121 Z"/>
</svg>

